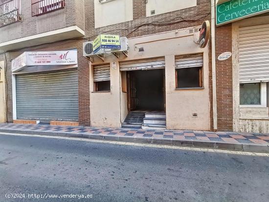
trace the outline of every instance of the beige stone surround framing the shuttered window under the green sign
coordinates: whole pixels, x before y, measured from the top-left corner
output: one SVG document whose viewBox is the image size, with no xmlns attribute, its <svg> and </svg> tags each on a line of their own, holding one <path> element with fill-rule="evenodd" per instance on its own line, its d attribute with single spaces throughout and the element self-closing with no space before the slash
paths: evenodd
<svg viewBox="0 0 269 202">
<path fill-rule="evenodd" d="M 247 18 L 232 23 L 232 63 L 233 63 L 233 131 L 248 133 L 269 133 L 267 107 L 240 107 L 239 86 L 239 27 L 269 24 L 268 16 Z"/>
</svg>

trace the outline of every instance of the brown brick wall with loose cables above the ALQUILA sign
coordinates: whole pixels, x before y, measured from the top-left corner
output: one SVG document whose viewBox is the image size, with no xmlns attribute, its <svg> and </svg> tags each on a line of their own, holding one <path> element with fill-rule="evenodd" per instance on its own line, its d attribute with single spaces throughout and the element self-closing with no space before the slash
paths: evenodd
<svg viewBox="0 0 269 202">
<path fill-rule="evenodd" d="M 108 2 L 108 4 L 112 2 Z M 185 1 L 180 2 L 181 4 L 186 3 Z M 146 16 L 146 6 L 145 0 L 133 0 L 133 21 L 95 28 L 94 0 L 85 0 L 85 37 L 92 41 L 98 34 L 109 33 L 132 38 L 184 27 L 200 26 L 204 20 L 210 20 L 209 0 L 197 0 L 197 6 L 152 17 Z M 186 22 L 182 18 L 194 20 L 194 22 Z"/>
</svg>

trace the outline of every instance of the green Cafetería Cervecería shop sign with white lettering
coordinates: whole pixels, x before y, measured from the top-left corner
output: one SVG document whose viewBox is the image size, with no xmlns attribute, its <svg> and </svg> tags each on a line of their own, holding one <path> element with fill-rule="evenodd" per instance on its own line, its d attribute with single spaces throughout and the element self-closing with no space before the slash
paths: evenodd
<svg viewBox="0 0 269 202">
<path fill-rule="evenodd" d="M 225 24 L 268 11 L 269 0 L 228 0 L 216 6 L 216 24 Z"/>
</svg>

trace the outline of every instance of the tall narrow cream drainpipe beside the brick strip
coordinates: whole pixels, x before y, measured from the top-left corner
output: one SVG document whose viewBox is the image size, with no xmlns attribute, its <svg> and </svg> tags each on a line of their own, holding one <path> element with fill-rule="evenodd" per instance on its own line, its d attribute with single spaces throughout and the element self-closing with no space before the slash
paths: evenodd
<svg viewBox="0 0 269 202">
<path fill-rule="evenodd" d="M 211 0 L 211 52 L 212 52 L 212 94 L 213 129 L 218 129 L 217 90 L 216 90 L 216 53 L 215 53 L 215 0 Z"/>
</svg>

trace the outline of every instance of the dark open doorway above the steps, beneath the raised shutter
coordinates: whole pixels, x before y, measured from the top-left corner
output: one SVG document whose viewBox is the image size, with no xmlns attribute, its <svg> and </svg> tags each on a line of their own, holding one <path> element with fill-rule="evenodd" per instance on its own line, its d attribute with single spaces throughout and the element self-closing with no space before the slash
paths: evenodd
<svg viewBox="0 0 269 202">
<path fill-rule="evenodd" d="M 164 111 L 164 69 L 127 72 L 129 111 Z"/>
</svg>

